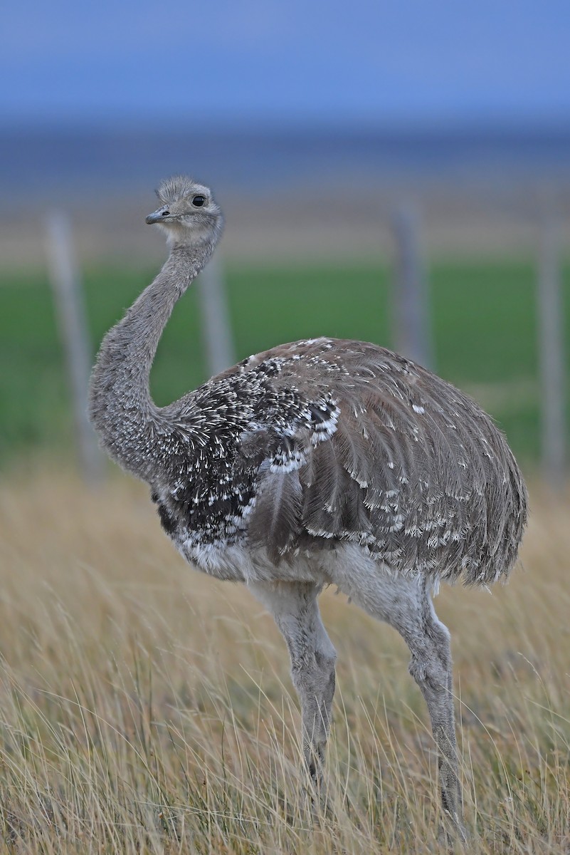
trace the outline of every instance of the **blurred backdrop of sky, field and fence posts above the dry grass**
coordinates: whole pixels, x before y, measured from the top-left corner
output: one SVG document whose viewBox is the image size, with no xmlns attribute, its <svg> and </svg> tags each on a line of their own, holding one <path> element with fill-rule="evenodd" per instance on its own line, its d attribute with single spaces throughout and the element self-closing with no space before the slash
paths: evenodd
<svg viewBox="0 0 570 855">
<path fill-rule="evenodd" d="M 281 341 L 368 339 L 473 394 L 526 472 L 561 485 L 567 3 L 23 0 L 1 15 L 4 471 L 82 443 L 96 467 L 77 433 L 88 366 L 165 257 L 144 216 L 183 172 L 227 226 L 161 342 L 158 403 Z"/>
</svg>

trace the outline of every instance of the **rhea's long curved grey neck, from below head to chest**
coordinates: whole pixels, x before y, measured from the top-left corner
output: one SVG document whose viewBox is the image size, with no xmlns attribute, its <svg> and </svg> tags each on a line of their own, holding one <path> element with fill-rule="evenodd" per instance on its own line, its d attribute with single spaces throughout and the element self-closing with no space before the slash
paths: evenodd
<svg viewBox="0 0 570 855">
<path fill-rule="evenodd" d="M 215 241 L 172 247 L 160 274 L 103 339 L 90 380 L 90 418 L 121 466 L 152 479 L 167 424 L 150 396 L 150 369 L 174 305 L 212 254 Z"/>
</svg>

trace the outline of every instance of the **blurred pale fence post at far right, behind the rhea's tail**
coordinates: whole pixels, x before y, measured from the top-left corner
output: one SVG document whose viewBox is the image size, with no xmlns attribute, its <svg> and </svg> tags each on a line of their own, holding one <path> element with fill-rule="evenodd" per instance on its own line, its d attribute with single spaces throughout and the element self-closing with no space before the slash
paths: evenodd
<svg viewBox="0 0 570 855">
<path fill-rule="evenodd" d="M 550 194 L 542 201 L 538 252 L 538 361 L 544 477 L 560 489 L 566 476 L 566 371 L 561 300 L 561 223 Z"/>
</svg>

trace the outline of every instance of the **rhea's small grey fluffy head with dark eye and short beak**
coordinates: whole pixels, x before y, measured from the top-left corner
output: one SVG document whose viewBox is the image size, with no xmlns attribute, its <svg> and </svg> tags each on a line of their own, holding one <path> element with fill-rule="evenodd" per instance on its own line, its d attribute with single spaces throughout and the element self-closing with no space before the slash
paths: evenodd
<svg viewBox="0 0 570 855">
<path fill-rule="evenodd" d="M 156 195 L 160 208 L 146 218 L 160 226 L 170 244 L 200 244 L 217 240 L 224 217 L 212 191 L 186 175 L 173 175 L 162 182 Z"/>
</svg>

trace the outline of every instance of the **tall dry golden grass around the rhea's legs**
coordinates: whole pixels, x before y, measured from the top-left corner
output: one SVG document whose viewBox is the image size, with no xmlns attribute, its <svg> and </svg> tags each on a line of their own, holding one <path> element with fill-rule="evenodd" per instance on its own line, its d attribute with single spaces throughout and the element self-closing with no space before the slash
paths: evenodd
<svg viewBox="0 0 570 855">
<path fill-rule="evenodd" d="M 570 504 L 533 493 L 524 569 L 442 591 L 470 852 L 570 852 Z M 434 852 L 433 746 L 393 630 L 333 593 L 340 654 L 311 819 L 284 644 L 241 587 L 186 567 L 143 488 L 65 471 L 0 491 L 6 852 Z"/>
</svg>

